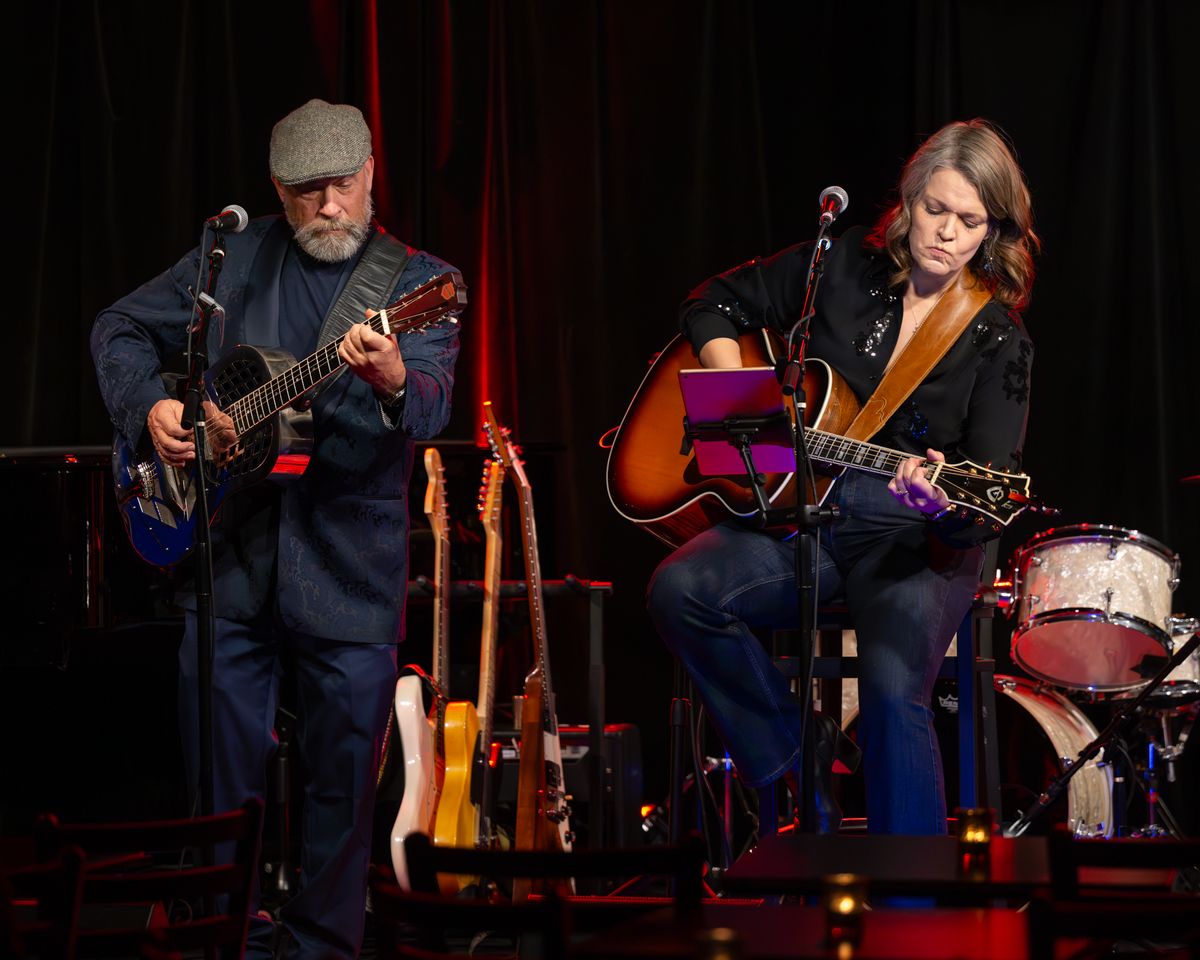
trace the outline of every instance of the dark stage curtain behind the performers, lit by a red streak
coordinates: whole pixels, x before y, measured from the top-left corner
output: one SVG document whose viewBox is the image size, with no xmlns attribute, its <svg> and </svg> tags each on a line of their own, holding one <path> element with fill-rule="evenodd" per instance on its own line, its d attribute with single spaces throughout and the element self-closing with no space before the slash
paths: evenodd
<svg viewBox="0 0 1200 960">
<path fill-rule="evenodd" d="M 88 330 L 238 202 L 274 212 L 271 125 L 359 104 L 397 235 L 457 264 L 454 438 L 488 396 L 553 449 L 552 565 L 611 578 L 610 716 L 647 736 L 668 658 L 642 613 L 661 550 L 619 520 L 598 438 L 707 275 L 815 233 L 816 197 L 874 220 L 905 156 L 956 118 L 1015 143 L 1045 241 L 1026 468 L 1062 508 L 1184 559 L 1200 607 L 1198 6 L 1015 2 L 67 2 L 8 35 L 8 329 L 0 446 L 104 443 Z M 463 504 L 462 510 L 469 506 Z M 581 655 L 563 637 L 559 678 Z M 424 644 L 422 644 L 424 646 Z M 568 710 L 572 718 L 582 716 Z M 661 784 L 652 774 L 652 784 Z"/>
</svg>

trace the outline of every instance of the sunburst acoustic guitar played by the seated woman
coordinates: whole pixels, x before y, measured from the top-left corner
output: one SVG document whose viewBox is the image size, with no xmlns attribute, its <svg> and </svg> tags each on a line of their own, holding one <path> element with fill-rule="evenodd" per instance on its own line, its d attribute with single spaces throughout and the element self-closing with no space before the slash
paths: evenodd
<svg viewBox="0 0 1200 960">
<path fill-rule="evenodd" d="M 748 367 L 774 366 L 780 340 L 756 331 L 740 338 L 742 360 Z M 746 476 L 704 476 L 685 438 L 679 372 L 697 366 L 691 343 L 672 340 L 650 365 L 613 438 L 608 451 L 608 499 L 623 517 L 637 523 L 671 547 L 685 544 L 709 527 L 756 512 L 754 491 Z M 838 474 L 862 470 L 890 476 L 911 454 L 841 436 L 860 404 L 850 385 L 822 360 L 805 365 L 804 414 L 808 454 L 822 474 L 809 503 L 822 503 Z M 1032 503 L 1031 481 L 1025 474 L 960 461 L 925 463 L 930 480 L 949 498 L 950 508 L 974 516 L 998 532 Z M 766 493 L 772 503 L 794 503 L 791 473 L 766 474 Z M 806 485 L 808 486 L 808 485 Z"/>
</svg>

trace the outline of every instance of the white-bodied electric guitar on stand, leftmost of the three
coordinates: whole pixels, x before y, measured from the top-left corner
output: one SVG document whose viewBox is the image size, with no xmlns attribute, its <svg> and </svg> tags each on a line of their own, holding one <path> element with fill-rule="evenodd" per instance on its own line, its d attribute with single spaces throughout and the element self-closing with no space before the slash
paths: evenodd
<svg viewBox="0 0 1200 960">
<path fill-rule="evenodd" d="M 404 761 L 404 794 L 391 828 L 396 882 L 412 889 L 404 838 L 433 834 L 438 798 L 445 782 L 446 689 L 450 679 L 450 524 L 442 456 L 425 451 L 425 516 L 433 530 L 433 661 L 430 674 L 415 671 L 396 682 L 396 730 Z M 432 707 L 426 710 L 426 694 Z M 469 706 L 469 704 L 468 704 Z"/>
</svg>

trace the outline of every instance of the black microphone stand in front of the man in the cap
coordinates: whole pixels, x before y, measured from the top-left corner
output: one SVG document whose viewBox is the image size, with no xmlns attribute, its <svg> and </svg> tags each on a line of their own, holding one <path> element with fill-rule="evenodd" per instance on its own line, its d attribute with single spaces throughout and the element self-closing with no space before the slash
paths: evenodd
<svg viewBox="0 0 1200 960">
<path fill-rule="evenodd" d="M 208 234 L 208 223 L 200 234 L 200 248 Z M 212 791 L 212 659 L 216 636 L 216 620 L 212 607 L 212 533 L 209 529 L 209 498 L 206 490 L 204 451 L 204 376 L 209 366 L 208 334 L 209 319 L 214 313 L 221 313 L 221 306 L 212 299 L 217 277 L 224 262 L 224 236 L 215 230 L 212 246 L 208 252 L 209 276 L 204 293 L 199 292 L 199 276 L 193 288 L 192 322 L 187 332 L 187 386 L 184 394 L 184 413 L 180 426 L 192 431 L 196 444 L 196 664 L 198 677 L 199 702 L 199 748 L 200 748 L 200 814 L 214 812 Z M 214 851 L 204 851 L 205 863 L 214 863 Z"/>
</svg>

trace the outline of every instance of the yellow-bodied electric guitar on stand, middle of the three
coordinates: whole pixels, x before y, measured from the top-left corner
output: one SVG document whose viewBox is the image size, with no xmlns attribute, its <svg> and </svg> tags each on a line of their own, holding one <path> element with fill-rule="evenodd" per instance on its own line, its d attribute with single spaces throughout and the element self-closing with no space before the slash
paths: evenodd
<svg viewBox="0 0 1200 960">
<path fill-rule="evenodd" d="M 475 703 L 446 704 L 446 770 L 433 827 L 433 842 L 449 847 L 490 847 L 494 839 L 492 730 L 496 702 L 496 647 L 500 628 L 500 504 L 504 464 L 484 467 L 479 515 L 487 536 L 484 560 L 484 626 L 479 647 L 479 696 Z M 439 874 L 444 894 L 454 895 L 474 877 Z"/>
</svg>

